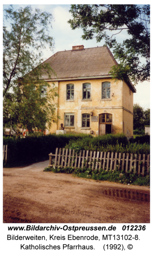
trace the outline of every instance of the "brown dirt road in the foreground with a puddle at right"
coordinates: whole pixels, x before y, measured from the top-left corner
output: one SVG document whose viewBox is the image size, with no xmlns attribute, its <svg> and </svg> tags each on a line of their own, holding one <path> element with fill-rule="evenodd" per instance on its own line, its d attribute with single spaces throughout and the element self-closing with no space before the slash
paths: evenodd
<svg viewBox="0 0 153 256">
<path fill-rule="evenodd" d="M 43 172 L 48 164 L 3 169 L 4 223 L 150 223 L 149 202 L 102 193 L 149 188 Z"/>
</svg>

